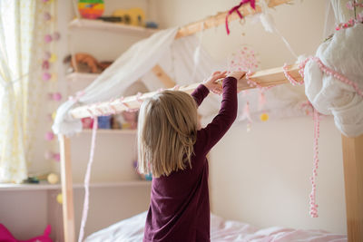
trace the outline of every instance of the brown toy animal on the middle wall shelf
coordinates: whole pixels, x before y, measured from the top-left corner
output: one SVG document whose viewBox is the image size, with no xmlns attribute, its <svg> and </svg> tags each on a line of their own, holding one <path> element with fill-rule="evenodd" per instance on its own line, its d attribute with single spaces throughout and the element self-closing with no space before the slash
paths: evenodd
<svg viewBox="0 0 363 242">
<path fill-rule="evenodd" d="M 102 73 L 113 62 L 98 62 L 89 53 L 75 53 L 64 58 L 64 63 L 70 65 L 69 73 Z"/>
</svg>

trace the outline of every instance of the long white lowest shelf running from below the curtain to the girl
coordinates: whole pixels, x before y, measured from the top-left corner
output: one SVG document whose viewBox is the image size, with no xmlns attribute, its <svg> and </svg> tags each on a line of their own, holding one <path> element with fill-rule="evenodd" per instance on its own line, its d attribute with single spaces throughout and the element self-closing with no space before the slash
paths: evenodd
<svg viewBox="0 0 363 242">
<path fill-rule="evenodd" d="M 93 183 L 90 184 L 90 188 L 122 188 L 122 187 L 141 187 L 151 186 L 152 182 L 148 180 L 130 180 L 130 181 L 118 181 L 118 182 L 105 182 L 105 183 Z M 83 189 L 82 183 L 74 184 L 74 189 Z M 39 184 L 0 184 L 0 191 L 12 191 L 12 190 L 52 190 L 62 189 L 61 184 L 49 184 L 46 181 L 42 181 Z"/>
</svg>

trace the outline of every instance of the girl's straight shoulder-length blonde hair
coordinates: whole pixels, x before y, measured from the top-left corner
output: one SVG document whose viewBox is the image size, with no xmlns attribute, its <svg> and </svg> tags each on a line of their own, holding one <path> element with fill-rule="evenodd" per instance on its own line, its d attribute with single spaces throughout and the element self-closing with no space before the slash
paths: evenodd
<svg viewBox="0 0 363 242">
<path fill-rule="evenodd" d="M 152 177 L 191 168 L 197 139 L 197 105 L 191 95 L 164 91 L 142 103 L 138 122 L 138 169 Z"/>
</svg>

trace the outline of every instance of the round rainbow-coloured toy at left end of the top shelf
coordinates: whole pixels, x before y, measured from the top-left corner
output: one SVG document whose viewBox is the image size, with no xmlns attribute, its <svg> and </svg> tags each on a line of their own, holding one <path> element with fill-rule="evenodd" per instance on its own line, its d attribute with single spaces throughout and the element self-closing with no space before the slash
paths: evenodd
<svg viewBox="0 0 363 242">
<path fill-rule="evenodd" d="M 79 0 L 78 11 L 83 18 L 96 19 L 103 15 L 103 0 Z"/>
</svg>

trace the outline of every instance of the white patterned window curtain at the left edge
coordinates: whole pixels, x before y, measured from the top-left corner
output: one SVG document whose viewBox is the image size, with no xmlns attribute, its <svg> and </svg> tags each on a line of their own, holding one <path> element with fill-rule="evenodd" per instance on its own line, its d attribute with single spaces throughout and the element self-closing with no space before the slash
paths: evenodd
<svg viewBox="0 0 363 242">
<path fill-rule="evenodd" d="M 0 0 L 0 182 L 27 177 L 41 93 L 42 4 Z"/>
</svg>

